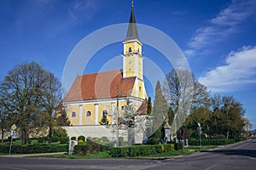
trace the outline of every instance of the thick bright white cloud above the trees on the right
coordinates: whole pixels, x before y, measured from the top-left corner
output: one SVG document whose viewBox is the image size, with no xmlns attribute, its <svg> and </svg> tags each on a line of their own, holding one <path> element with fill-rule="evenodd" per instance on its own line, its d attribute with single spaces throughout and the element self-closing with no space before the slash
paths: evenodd
<svg viewBox="0 0 256 170">
<path fill-rule="evenodd" d="M 230 52 L 225 65 L 208 71 L 199 78 L 199 82 L 212 93 L 230 92 L 243 85 L 256 83 L 256 46 Z"/>
</svg>

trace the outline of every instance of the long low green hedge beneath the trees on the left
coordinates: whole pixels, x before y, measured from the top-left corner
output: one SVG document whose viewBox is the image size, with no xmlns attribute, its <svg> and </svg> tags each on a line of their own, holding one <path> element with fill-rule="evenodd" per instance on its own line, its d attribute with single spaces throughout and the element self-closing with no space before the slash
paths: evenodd
<svg viewBox="0 0 256 170">
<path fill-rule="evenodd" d="M 12 154 L 36 154 L 36 153 L 52 153 L 52 152 L 67 152 L 68 144 L 60 145 L 28 145 L 12 147 Z M 0 147 L 1 153 L 9 153 L 9 146 Z"/>
</svg>

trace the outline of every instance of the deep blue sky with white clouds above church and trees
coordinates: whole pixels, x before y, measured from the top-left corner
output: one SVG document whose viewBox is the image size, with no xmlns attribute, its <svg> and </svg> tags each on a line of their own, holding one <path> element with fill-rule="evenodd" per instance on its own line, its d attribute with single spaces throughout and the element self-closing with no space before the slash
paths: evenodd
<svg viewBox="0 0 256 170">
<path fill-rule="evenodd" d="M 137 23 L 172 37 L 198 80 L 212 94 L 233 95 L 241 101 L 255 128 L 256 1 L 134 3 Z M 85 36 L 104 26 L 128 22 L 130 13 L 130 0 L 2 0 L 0 80 L 16 64 L 32 60 L 61 79 L 68 55 Z M 104 62 L 121 54 L 121 41 L 102 48 L 84 72 L 97 72 Z M 143 51 L 162 71 L 171 70 L 157 50 L 145 45 Z"/>
</svg>

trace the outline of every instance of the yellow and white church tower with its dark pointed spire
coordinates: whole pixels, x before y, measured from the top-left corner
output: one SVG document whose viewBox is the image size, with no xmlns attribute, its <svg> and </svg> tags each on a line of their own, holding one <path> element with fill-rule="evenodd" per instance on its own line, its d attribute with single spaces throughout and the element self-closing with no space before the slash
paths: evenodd
<svg viewBox="0 0 256 170">
<path fill-rule="evenodd" d="M 147 94 L 143 81 L 143 43 L 138 36 L 137 24 L 133 11 L 133 1 L 131 1 L 131 16 L 123 44 L 123 77 L 137 77 L 136 96 L 140 99 L 146 99 Z"/>
</svg>

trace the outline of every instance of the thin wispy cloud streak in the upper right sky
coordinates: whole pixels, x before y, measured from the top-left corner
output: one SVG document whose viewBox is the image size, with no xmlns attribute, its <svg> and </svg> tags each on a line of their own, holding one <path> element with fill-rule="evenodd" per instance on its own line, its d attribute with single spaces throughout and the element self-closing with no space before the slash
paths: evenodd
<svg viewBox="0 0 256 170">
<path fill-rule="evenodd" d="M 215 18 L 209 20 L 208 26 L 195 31 L 195 35 L 188 42 L 189 49 L 186 51 L 196 52 L 198 49 L 207 48 L 209 44 L 224 39 L 225 36 L 237 31 L 236 26 L 255 13 L 255 10 L 255 0 L 233 1 L 229 7 L 224 8 Z"/>
</svg>

